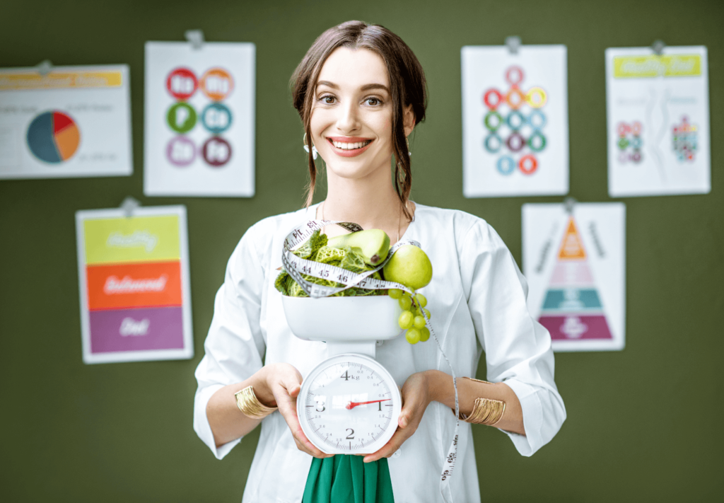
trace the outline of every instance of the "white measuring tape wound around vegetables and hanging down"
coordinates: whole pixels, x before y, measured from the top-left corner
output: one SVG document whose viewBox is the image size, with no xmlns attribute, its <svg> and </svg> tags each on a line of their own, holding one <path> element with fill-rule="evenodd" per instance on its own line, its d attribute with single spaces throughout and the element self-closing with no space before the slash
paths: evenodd
<svg viewBox="0 0 724 503">
<path fill-rule="evenodd" d="M 412 245 L 421 248 L 417 241 L 411 239 L 405 241 L 398 241 L 392 248 L 390 248 L 387 258 L 384 259 L 377 267 L 372 270 L 365 271 L 364 273 L 353 273 L 350 270 L 342 269 L 329 264 L 322 264 L 321 262 L 314 262 L 313 260 L 307 260 L 297 257 L 292 253 L 300 244 L 304 243 L 312 236 L 316 230 L 323 229 L 327 225 L 337 224 L 350 232 L 358 232 L 363 230 L 359 225 L 352 222 L 337 222 L 334 220 L 309 220 L 307 223 L 298 225 L 292 232 L 287 235 L 284 240 L 284 250 L 282 251 L 282 265 L 287 273 L 302 287 L 306 294 L 313 299 L 319 299 L 320 297 L 327 297 L 337 292 L 347 290 L 348 288 L 366 288 L 368 290 L 387 290 L 389 288 L 397 288 L 403 290 L 415 296 L 415 291 L 401 283 L 395 283 L 394 281 L 378 280 L 376 278 L 370 278 L 371 275 L 382 269 L 387 262 L 390 261 L 395 251 L 400 249 L 401 246 Z M 306 280 L 303 275 L 312 276 L 313 278 L 319 278 L 323 280 L 335 281 L 341 283 L 343 286 L 325 286 L 317 285 L 311 281 Z M 458 381 L 455 376 L 455 370 L 453 370 L 450 360 L 447 359 L 445 352 L 442 351 L 442 345 L 435 335 L 435 331 L 430 325 L 430 319 L 424 309 L 420 309 L 421 314 L 425 318 L 425 325 L 430 331 L 430 335 L 434 338 L 437 348 L 440 350 L 442 357 L 445 358 L 445 362 L 450 367 L 450 373 L 452 373 L 452 386 L 455 388 L 455 436 L 452 438 L 450 449 L 447 449 L 447 456 L 442 465 L 442 473 L 440 474 L 440 494 L 442 499 L 446 503 L 452 503 L 452 491 L 450 489 L 450 478 L 452 478 L 452 470 L 455 468 L 455 461 L 458 458 L 458 431 L 460 429 L 460 406 L 458 404 Z M 446 493 L 450 496 L 447 499 Z"/>
</svg>

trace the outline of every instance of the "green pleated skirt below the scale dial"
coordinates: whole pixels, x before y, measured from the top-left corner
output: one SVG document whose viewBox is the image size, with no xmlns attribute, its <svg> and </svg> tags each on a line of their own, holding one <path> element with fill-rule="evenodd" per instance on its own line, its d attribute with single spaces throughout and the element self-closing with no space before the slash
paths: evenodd
<svg viewBox="0 0 724 503">
<path fill-rule="evenodd" d="M 362 456 L 314 458 L 302 503 L 395 503 L 387 459 L 365 463 Z"/>
</svg>

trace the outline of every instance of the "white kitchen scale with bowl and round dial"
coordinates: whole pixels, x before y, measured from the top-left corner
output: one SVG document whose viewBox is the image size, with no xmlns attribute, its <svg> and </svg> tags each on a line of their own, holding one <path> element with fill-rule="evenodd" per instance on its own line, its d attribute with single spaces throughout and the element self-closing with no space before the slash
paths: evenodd
<svg viewBox="0 0 724 503">
<path fill-rule="evenodd" d="M 377 341 L 399 336 L 402 309 L 390 296 L 282 296 L 292 333 L 327 342 L 327 359 L 302 382 L 302 431 L 325 454 L 371 454 L 397 430 L 402 398 L 375 357 Z"/>
</svg>

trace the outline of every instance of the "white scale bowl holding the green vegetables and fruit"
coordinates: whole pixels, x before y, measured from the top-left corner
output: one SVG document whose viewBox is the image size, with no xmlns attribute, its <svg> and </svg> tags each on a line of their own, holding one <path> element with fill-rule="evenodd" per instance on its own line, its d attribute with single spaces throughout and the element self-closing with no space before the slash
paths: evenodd
<svg viewBox="0 0 724 503">
<path fill-rule="evenodd" d="M 400 303 L 387 295 L 363 297 L 282 296 L 292 333 L 305 341 L 384 341 L 403 331 Z"/>
</svg>

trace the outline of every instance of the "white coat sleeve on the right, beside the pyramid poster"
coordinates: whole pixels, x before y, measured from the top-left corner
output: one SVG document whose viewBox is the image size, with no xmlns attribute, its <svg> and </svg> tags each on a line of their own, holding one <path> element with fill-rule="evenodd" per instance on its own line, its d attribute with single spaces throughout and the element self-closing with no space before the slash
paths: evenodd
<svg viewBox="0 0 724 503">
<path fill-rule="evenodd" d="M 555 386 L 550 333 L 528 312 L 528 283 L 500 236 L 474 224 L 460 254 L 463 288 L 485 352 L 487 380 L 505 382 L 523 408 L 526 435 L 508 433 L 523 456 L 547 444 L 565 421 Z"/>
</svg>

